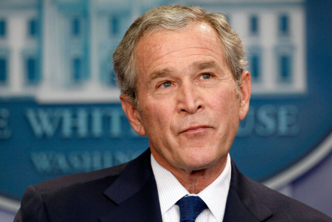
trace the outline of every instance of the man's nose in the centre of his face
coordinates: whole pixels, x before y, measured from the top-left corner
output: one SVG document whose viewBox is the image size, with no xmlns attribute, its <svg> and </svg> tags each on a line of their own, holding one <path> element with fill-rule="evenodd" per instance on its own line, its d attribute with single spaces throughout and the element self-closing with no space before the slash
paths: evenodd
<svg viewBox="0 0 332 222">
<path fill-rule="evenodd" d="M 203 108 L 201 95 L 191 82 L 183 82 L 178 90 L 178 111 L 193 114 Z"/>
</svg>

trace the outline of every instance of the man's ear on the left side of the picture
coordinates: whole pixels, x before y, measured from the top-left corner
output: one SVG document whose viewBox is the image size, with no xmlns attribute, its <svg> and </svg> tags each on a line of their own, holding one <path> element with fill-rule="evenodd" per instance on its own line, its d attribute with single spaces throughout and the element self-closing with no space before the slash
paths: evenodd
<svg viewBox="0 0 332 222">
<path fill-rule="evenodd" d="M 144 136 L 145 130 L 141 122 L 138 110 L 134 107 L 134 105 L 131 102 L 129 102 L 127 96 L 125 96 L 124 94 L 120 95 L 120 100 L 121 100 L 122 109 L 123 111 L 125 111 L 131 127 L 140 136 Z"/>
</svg>

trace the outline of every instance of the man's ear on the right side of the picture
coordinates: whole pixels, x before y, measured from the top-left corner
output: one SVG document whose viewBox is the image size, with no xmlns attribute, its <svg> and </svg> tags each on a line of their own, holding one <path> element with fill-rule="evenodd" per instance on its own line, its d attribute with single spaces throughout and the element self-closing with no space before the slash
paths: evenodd
<svg viewBox="0 0 332 222">
<path fill-rule="evenodd" d="M 239 110 L 239 119 L 243 120 L 247 115 L 249 110 L 249 100 L 251 94 L 251 77 L 248 71 L 244 71 L 241 74 L 241 100 L 240 100 L 240 110 Z"/>
</svg>

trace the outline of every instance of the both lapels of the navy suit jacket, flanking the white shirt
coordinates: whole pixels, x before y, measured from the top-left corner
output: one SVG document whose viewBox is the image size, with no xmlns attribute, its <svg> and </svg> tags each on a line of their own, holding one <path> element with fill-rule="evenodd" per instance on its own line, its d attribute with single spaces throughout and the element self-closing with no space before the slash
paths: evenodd
<svg viewBox="0 0 332 222">
<path fill-rule="evenodd" d="M 100 221 L 162 221 L 156 180 L 150 163 L 150 149 L 129 162 L 104 194 L 118 206 Z M 233 160 L 232 177 L 224 222 L 266 221 L 272 212 L 257 196 L 247 177 Z M 121 218 L 121 219 L 120 219 Z"/>
</svg>

